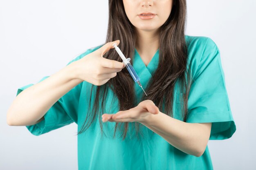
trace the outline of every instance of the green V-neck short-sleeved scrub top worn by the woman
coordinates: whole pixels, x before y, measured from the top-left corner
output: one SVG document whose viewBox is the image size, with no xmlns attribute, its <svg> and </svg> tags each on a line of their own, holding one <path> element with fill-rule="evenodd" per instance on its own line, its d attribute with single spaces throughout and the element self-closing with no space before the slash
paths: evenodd
<svg viewBox="0 0 256 170">
<path fill-rule="evenodd" d="M 236 131 L 236 125 L 229 106 L 218 47 L 213 40 L 207 37 L 186 35 L 185 39 L 188 47 L 188 66 L 191 67 L 191 75 L 194 79 L 189 93 L 186 122 L 212 122 L 210 139 L 228 139 Z M 68 64 L 81 59 L 101 46 L 88 49 Z M 142 86 L 146 87 L 157 68 L 159 50 L 157 50 L 148 66 L 145 66 L 136 49 L 131 60 L 133 60 L 135 71 L 141 78 Z M 49 76 L 43 77 L 39 82 L 47 77 Z M 19 88 L 17 95 L 32 85 L 29 84 Z M 27 129 L 33 135 L 38 136 L 75 122 L 78 125 L 78 130 L 80 130 L 88 111 L 92 86 L 94 85 L 85 81 L 78 84 L 47 111 L 43 121 L 26 126 Z M 177 86 L 175 87 L 173 117 L 181 120 L 180 110 L 183 107 L 183 101 Z M 94 86 L 94 90 L 96 90 L 96 86 Z M 136 97 L 141 99 L 143 91 L 137 84 L 135 85 L 135 92 Z M 92 93 L 92 99 L 94 99 L 94 94 Z M 109 90 L 103 113 L 117 113 L 118 111 L 117 97 Z M 129 127 L 132 123 L 129 123 Z M 208 146 L 201 157 L 195 157 L 173 147 L 161 136 L 146 126 L 140 125 L 143 137 L 139 135 L 139 138 L 137 138 L 135 130 L 128 128 L 128 134 L 122 141 L 122 138 L 120 138 L 121 132 L 117 133 L 114 139 L 112 138 L 115 122 L 103 123 L 103 130 L 107 137 L 101 135 L 99 117 L 97 117 L 87 131 L 78 135 L 79 170 L 213 169 Z M 117 130 L 117 132 L 119 131 Z"/>
</svg>

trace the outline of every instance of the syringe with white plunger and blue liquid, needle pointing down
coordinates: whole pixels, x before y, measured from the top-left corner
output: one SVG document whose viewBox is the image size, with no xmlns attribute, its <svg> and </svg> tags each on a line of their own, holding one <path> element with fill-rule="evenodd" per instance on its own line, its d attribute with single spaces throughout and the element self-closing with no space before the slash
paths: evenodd
<svg viewBox="0 0 256 170">
<path fill-rule="evenodd" d="M 117 43 L 114 43 L 113 46 L 115 47 L 117 53 L 119 54 L 119 56 L 121 57 L 121 59 L 124 61 L 124 65 L 126 66 L 126 68 L 128 69 L 130 75 L 132 76 L 133 80 L 135 81 L 135 83 L 137 82 L 139 84 L 139 86 L 142 88 L 141 83 L 140 83 L 140 78 L 137 75 L 137 73 L 135 72 L 135 70 L 132 67 L 132 64 L 130 64 L 130 58 L 127 58 L 124 56 L 124 54 L 121 52 L 121 50 L 119 49 L 119 47 L 117 46 Z M 142 90 L 144 91 L 144 89 L 142 88 Z M 146 92 L 144 91 L 144 93 L 146 94 Z M 146 96 L 148 96 L 146 94 Z"/>
</svg>

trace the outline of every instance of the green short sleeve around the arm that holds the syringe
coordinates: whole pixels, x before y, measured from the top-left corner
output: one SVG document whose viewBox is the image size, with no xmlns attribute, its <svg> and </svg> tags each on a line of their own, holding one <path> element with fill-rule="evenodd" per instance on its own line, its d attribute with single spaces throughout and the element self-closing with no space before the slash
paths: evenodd
<svg viewBox="0 0 256 170">
<path fill-rule="evenodd" d="M 72 62 L 81 59 L 91 50 L 87 50 L 81 55 L 77 56 L 75 59 L 71 60 L 67 65 Z M 47 79 L 49 76 L 45 76 L 40 79 L 39 82 L 42 82 L 44 79 Z M 39 83 L 38 82 L 38 83 Z M 21 93 L 26 88 L 33 86 L 34 84 L 28 84 L 26 86 L 22 86 L 18 88 L 16 96 Z M 37 124 L 26 126 L 27 129 L 33 135 L 41 135 L 51 130 L 55 130 L 57 128 L 61 128 L 73 122 L 77 123 L 77 112 L 78 112 L 78 104 L 79 104 L 79 96 L 81 93 L 82 83 L 78 84 L 74 88 L 72 88 L 69 92 L 63 95 L 58 101 L 45 113 L 44 120 L 38 122 Z"/>
</svg>

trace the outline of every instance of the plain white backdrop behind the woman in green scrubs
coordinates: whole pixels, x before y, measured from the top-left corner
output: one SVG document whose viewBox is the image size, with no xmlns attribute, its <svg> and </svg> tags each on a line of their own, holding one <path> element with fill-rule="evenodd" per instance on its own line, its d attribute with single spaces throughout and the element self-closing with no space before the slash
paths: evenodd
<svg viewBox="0 0 256 170">
<path fill-rule="evenodd" d="M 209 141 L 215 170 L 255 169 L 256 67 L 254 0 L 189 0 L 186 34 L 220 49 L 236 132 Z M 76 124 L 41 136 L 8 126 L 19 87 L 52 75 L 86 49 L 103 44 L 108 1 L 0 0 L 0 169 L 77 169 Z"/>
</svg>

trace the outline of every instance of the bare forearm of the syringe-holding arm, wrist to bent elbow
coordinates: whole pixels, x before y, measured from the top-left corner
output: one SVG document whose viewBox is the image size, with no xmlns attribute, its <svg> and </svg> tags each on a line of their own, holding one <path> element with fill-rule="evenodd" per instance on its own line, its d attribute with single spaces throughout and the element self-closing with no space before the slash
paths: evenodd
<svg viewBox="0 0 256 170">
<path fill-rule="evenodd" d="M 72 63 L 47 79 L 22 91 L 7 112 L 7 122 L 12 126 L 27 126 L 42 120 L 47 110 L 63 95 L 82 81 L 74 78 Z"/>
</svg>

